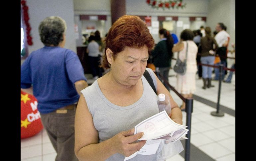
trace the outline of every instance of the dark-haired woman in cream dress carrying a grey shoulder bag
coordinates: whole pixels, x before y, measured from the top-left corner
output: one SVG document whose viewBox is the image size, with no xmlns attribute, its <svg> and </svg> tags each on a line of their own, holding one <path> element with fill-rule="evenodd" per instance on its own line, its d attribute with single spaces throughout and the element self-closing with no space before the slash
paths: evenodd
<svg viewBox="0 0 256 161">
<path fill-rule="evenodd" d="M 176 90 L 185 98 L 192 98 L 192 94 L 195 92 L 195 75 L 197 71 L 196 54 L 198 48 L 193 41 L 193 37 L 194 34 L 191 30 L 184 30 L 181 33 L 181 41 L 178 42 L 172 49 L 173 52 L 179 51 L 179 59 L 184 61 L 186 58 L 186 49 L 188 44 L 187 70 L 184 75 L 177 74 L 176 86 Z M 185 110 L 185 102 L 182 103 L 180 109 L 182 111 Z"/>
</svg>

